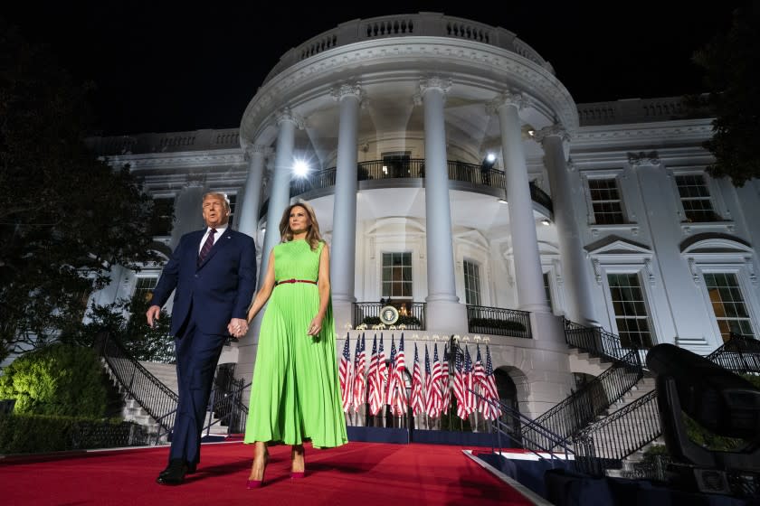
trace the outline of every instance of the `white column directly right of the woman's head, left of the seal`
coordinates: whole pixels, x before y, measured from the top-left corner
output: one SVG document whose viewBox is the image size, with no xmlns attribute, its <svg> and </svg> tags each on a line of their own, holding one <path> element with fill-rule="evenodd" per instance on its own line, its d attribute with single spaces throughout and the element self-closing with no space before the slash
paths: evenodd
<svg viewBox="0 0 760 506">
<path fill-rule="evenodd" d="M 352 323 L 356 262 L 356 143 L 362 90 L 343 85 L 332 90 L 339 102 L 335 207 L 333 207 L 330 282 L 333 314 L 338 329 Z"/>
</svg>

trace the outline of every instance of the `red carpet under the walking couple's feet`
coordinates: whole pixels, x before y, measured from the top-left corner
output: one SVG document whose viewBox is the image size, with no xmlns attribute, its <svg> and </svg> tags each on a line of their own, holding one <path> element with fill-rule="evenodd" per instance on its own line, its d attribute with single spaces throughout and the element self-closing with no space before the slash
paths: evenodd
<svg viewBox="0 0 760 506">
<path fill-rule="evenodd" d="M 204 445 L 198 473 L 185 484 L 155 483 L 168 448 L 131 449 L 44 460 L 0 460 L 3 504 L 400 504 L 529 505 L 462 454 L 461 446 L 349 443 L 329 450 L 307 446 L 307 476 L 290 481 L 290 446 L 273 446 L 264 487 L 247 490 L 252 446 Z"/>
</svg>

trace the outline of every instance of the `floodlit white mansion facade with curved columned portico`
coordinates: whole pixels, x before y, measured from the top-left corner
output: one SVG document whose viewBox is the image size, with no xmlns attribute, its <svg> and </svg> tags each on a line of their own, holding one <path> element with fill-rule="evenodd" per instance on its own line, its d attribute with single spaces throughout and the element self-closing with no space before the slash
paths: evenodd
<svg viewBox="0 0 760 506">
<path fill-rule="evenodd" d="M 88 142 L 174 211 L 156 231 L 166 256 L 203 226 L 201 195 L 226 192 L 261 273 L 282 211 L 308 201 L 330 245 L 338 350 L 390 298 L 412 317 L 407 357 L 451 335 L 488 342 L 535 417 L 574 373 L 596 373 L 565 320 L 700 354 L 760 332 L 760 183 L 711 178 L 712 118 L 685 113 L 680 98 L 576 104 L 514 33 L 424 13 L 291 49 L 238 128 Z M 149 291 L 159 274 L 115 271 L 93 298 Z M 254 330 L 223 354 L 246 382 L 256 346 Z"/>
</svg>

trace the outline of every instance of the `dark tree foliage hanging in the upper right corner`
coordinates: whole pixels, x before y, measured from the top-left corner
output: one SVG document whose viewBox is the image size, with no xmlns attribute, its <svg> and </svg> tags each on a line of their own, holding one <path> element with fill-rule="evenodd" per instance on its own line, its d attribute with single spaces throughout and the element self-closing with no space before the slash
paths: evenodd
<svg viewBox="0 0 760 506">
<path fill-rule="evenodd" d="M 719 33 L 694 54 L 705 71 L 709 102 L 716 119 L 705 147 L 715 156 L 714 177 L 743 186 L 760 176 L 760 8 L 736 9 L 727 33 Z"/>
</svg>

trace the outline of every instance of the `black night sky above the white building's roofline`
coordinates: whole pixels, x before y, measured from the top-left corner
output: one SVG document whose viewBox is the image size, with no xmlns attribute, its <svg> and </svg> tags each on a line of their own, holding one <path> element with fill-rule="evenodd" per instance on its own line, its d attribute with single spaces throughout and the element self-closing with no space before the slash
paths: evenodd
<svg viewBox="0 0 760 506">
<path fill-rule="evenodd" d="M 95 83 L 93 133 L 126 135 L 239 126 L 291 47 L 339 23 L 387 14 L 438 12 L 506 28 L 552 63 L 578 103 L 700 92 L 691 55 L 727 28 L 740 3 L 713 2 L 709 10 L 664 0 L 75 4 L 26 1 L 0 15 L 30 42 L 50 44 L 76 80 Z"/>
</svg>

